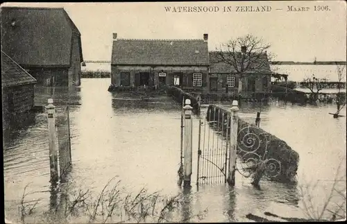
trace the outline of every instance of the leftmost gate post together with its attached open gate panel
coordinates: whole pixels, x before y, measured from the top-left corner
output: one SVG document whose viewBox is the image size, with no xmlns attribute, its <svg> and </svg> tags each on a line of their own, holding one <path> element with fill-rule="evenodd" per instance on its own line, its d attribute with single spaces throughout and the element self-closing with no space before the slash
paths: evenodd
<svg viewBox="0 0 347 224">
<path fill-rule="evenodd" d="M 58 182 L 59 178 L 64 178 L 71 166 L 69 105 L 65 105 L 56 116 L 53 99 L 49 98 L 48 103 L 46 112 L 49 131 L 49 162 L 51 183 L 53 184 Z"/>
</svg>

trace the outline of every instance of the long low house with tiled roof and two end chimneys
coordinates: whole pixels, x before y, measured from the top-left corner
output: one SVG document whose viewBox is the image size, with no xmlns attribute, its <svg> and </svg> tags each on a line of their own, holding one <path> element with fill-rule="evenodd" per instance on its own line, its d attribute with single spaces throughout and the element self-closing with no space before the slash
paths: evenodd
<svg viewBox="0 0 347 224">
<path fill-rule="evenodd" d="M 116 87 L 208 90 L 209 64 L 207 34 L 201 40 L 130 40 L 113 33 L 111 83 Z"/>
</svg>

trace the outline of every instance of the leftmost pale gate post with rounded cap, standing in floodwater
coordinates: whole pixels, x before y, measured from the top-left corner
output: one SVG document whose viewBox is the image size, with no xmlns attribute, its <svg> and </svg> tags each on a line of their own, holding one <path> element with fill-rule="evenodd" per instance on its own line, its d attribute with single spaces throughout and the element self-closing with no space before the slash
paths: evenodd
<svg viewBox="0 0 347 224">
<path fill-rule="evenodd" d="M 49 165 L 51 169 L 51 183 L 58 182 L 58 157 L 56 150 L 56 107 L 53 105 L 53 98 L 48 99 L 46 105 L 48 130 L 49 130 Z"/>
</svg>

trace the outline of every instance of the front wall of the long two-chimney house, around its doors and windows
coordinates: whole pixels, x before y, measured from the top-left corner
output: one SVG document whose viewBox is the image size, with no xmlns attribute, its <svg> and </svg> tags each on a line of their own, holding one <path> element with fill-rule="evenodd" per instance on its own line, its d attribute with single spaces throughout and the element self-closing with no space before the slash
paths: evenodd
<svg viewBox="0 0 347 224">
<path fill-rule="evenodd" d="M 150 85 L 159 85 L 159 73 L 165 72 L 166 85 L 174 85 L 174 76 L 177 73 L 183 74 L 183 89 L 202 89 L 208 90 L 210 87 L 208 79 L 208 67 L 149 67 L 149 66 L 111 66 L 111 83 L 112 85 L 121 85 L 121 72 L 130 73 L 130 85 L 136 86 L 136 74 L 139 72 L 149 72 L 154 77 L 154 82 Z M 203 75 L 203 86 L 192 87 L 189 84 L 192 83 L 192 77 L 194 73 L 201 73 Z M 190 80 L 190 81 L 189 81 Z"/>
</svg>

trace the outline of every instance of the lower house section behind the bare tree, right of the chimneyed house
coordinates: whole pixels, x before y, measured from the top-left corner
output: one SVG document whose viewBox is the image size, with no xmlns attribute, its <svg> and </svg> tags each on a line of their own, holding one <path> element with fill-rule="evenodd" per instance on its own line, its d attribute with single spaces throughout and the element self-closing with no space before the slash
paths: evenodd
<svg viewBox="0 0 347 224">
<path fill-rule="evenodd" d="M 223 54 L 223 55 L 221 55 Z M 242 72 L 237 71 L 227 52 L 210 51 L 210 90 L 212 92 L 232 92 L 251 96 L 252 94 L 267 94 L 271 90 L 271 74 L 269 58 L 266 53 L 258 55 L 250 66 Z M 228 59 L 230 61 L 228 61 Z M 246 67 L 246 65 L 244 66 Z"/>
</svg>

